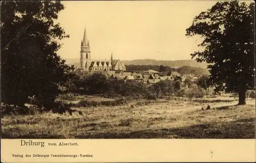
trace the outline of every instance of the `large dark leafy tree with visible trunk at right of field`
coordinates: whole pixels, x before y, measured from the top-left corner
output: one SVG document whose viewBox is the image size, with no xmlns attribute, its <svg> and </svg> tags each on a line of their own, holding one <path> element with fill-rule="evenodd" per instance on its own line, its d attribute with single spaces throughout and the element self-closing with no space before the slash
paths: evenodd
<svg viewBox="0 0 256 163">
<path fill-rule="evenodd" d="M 186 36 L 201 35 L 204 51 L 191 54 L 209 63 L 209 83 L 216 91 L 237 92 L 246 104 L 245 93 L 255 89 L 254 3 L 218 2 L 201 12 L 186 30 Z"/>
</svg>

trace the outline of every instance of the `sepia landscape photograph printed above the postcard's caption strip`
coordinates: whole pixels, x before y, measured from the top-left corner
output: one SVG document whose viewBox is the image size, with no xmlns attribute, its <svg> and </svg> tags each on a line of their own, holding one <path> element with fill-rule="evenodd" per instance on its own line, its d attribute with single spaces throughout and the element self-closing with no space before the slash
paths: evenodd
<svg viewBox="0 0 256 163">
<path fill-rule="evenodd" d="M 1 139 L 255 139 L 253 1 L 0 10 Z"/>
</svg>

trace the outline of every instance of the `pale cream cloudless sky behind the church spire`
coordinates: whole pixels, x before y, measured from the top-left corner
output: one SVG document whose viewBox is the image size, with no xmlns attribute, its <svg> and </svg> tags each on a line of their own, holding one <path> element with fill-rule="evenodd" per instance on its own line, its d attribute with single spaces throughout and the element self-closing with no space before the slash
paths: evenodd
<svg viewBox="0 0 256 163">
<path fill-rule="evenodd" d="M 62 1 L 58 19 L 70 35 L 58 55 L 79 59 L 86 27 L 92 59 L 189 60 L 199 37 L 186 37 L 195 16 L 217 1 Z"/>
</svg>

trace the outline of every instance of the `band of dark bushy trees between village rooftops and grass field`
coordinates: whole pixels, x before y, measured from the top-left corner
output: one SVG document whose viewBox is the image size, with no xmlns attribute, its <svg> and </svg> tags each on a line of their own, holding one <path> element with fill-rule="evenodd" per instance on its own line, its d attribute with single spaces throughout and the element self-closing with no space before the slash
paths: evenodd
<svg viewBox="0 0 256 163">
<path fill-rule="evenodd" d="M 72 77 L 62 87 L 63 94 L 77 93 L 82 95 L 94 95 L 105 97 L 129 97 L 156 99 L 166 96 L 178 96 L 188 98 L 202 98 L 207 95 L 209 85 L 208 75 L 202 75 L 193 82 L 187 78 L 182 82 L 177 76 L 174 80 L 160 80 L 158 83 L 145 84 L 131 81 L 125 82 L 122 79 L 107 78 L 101 74 L 79 74 L 72 73 Z"/>
</svg>

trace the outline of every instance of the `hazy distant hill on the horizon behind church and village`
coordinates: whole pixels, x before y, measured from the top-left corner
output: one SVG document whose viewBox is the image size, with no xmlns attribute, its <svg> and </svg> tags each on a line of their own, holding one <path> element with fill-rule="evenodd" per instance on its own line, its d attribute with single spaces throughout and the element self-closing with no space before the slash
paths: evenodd
<svg viewBox="0 0 256 163">
<path fill-rule="evenodd" d="M 79 59 L 65 59 L 67 64 L 79 67 Z M 158 61 L 152 59 L 143 60 L 132 60 L 132 61 L 122 61 L 124 65 L 163 65 L 172 68 L 179 68 L 182 66 L 207 68 L 207 63 L 198 63 L 195 60 L 177 60 L 177 61 Z"/>
</svg>

